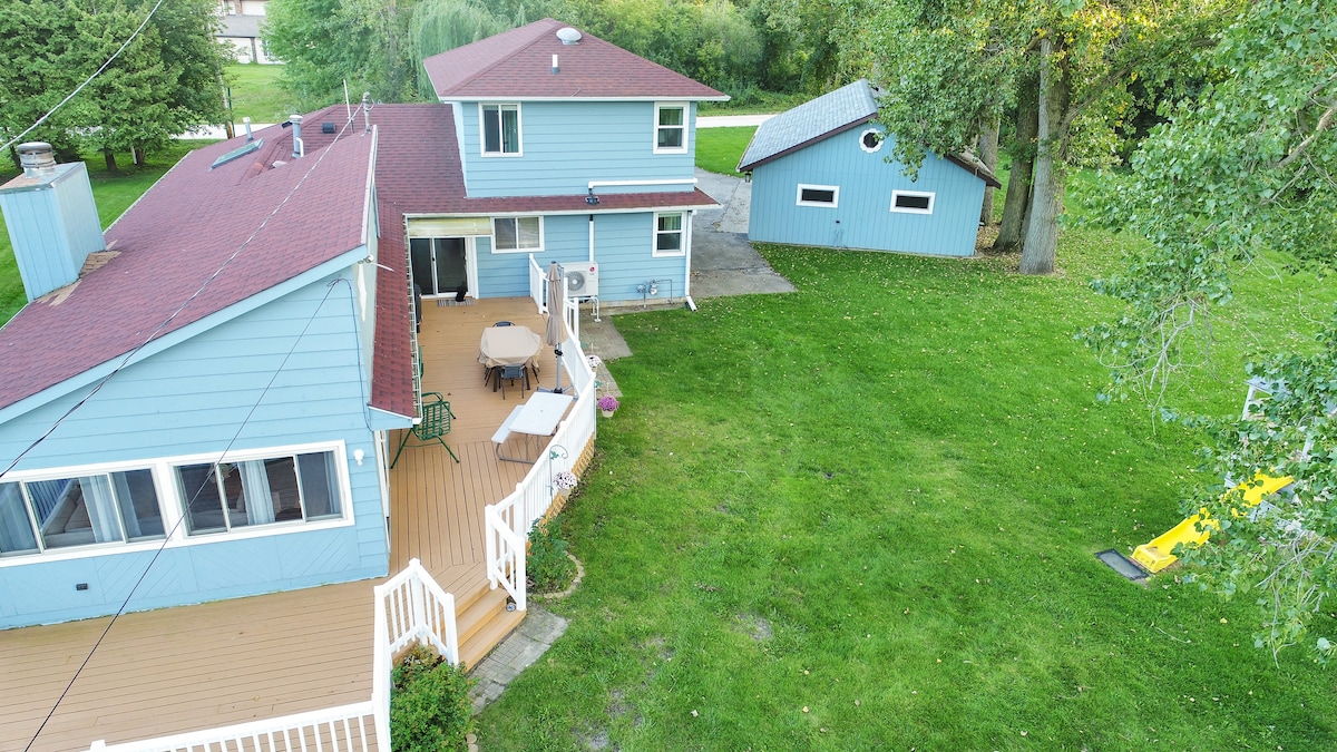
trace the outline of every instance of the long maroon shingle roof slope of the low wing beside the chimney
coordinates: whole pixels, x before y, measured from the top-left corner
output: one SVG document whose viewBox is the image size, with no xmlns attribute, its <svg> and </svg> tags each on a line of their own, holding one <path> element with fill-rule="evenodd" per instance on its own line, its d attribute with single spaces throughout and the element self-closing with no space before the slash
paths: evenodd
<svg viewBox="0 0 1337 752">
<path fill-rule="evenodd" d="M 255 135 L 258 151 L 214 169 L 245 136 L 187 154 L 107 229 L 106 265 L 0 326 L 0 408 L 364 244 L 373 139 L 291 159 L 291 131 Z"/>
</svg>

